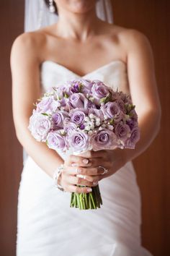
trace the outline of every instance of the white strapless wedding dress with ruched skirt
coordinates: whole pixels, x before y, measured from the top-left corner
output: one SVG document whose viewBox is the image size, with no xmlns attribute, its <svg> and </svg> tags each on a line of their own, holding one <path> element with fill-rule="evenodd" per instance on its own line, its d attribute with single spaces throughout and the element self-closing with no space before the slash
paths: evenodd
<svg viewBox="0 0 170 256">
<path fill-rule="evenodd" d="M 122 61 L 84 77 L 53 61 L 44 61 L 40 71 L 42 91 L 74 78 L 102 80 L 114 89 L 128 83 Z M 19 185 L 17 256 L 151 256 L 141 246 L 141 201 L 133 164 L 102 179 L 99 188 L 102 208 L 70 208 L 70 193 L 53 187 L 50 176 L 28 156 Z"/>
</svg>

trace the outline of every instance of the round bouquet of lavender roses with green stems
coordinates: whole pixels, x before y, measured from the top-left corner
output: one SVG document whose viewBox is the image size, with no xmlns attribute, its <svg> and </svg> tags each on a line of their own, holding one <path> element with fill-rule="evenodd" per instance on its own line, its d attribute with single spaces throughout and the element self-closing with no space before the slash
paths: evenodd
<svg viewBox="0 0 170 256">
<path fill-rule="evenodd" d="M 29 129 L 49 148 L 73 154 L 135 148 L 140 137 L 130 96 L 99 80 L 71 80 L 49 90 L 36 103 Z M 71 195 L 71 207 L 97 209 L 100 205 L 99 185 L 88 194 Z"/>
</svg>

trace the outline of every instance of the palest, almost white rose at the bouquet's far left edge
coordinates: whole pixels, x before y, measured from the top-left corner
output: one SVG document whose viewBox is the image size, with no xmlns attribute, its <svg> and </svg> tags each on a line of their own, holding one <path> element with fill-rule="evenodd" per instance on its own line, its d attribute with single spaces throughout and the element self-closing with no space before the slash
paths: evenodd
<svg viewBox="0 0 170 256">
<path fill-rule="evenodd" d="M 51 123 L 48 116 L 33 111 L 28 129 L 30 129 L 30 132 L 37 141 L 45 142 L 50 127 Z"/>
</svg>

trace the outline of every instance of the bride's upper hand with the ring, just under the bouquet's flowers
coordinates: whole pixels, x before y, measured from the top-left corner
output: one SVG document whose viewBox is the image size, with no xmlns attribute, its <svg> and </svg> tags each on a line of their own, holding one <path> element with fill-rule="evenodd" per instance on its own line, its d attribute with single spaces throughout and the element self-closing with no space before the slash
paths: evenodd
<svg viewBox="0 0 170 256">
<path fill-rule="evenodd" d="M 122 166 L 125 165 L 125 157 L 122 150 L 99 150 L 86 151 L 80 155 L 71 155 L 68 166 L 78 168 L 78 174 L 84 179 L 96 184 L 112 174 L 115 174 Z M 102 167 L 99 167 L 102 166 Z M 104 171 L 107 170 L 107 171 Z"/>
</svg>

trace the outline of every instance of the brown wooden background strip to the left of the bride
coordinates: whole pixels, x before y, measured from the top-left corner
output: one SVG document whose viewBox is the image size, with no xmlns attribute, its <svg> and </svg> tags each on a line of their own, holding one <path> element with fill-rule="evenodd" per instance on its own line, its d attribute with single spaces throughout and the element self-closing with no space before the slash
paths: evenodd
<svg viewBox="0 0 170 256">
<path fill-rule="evenodd" d="M 0 255 L 14 256 L 22 147 L 17 142 L 12 120 L 9 56 L 14 38 L 24 29 L 24 1 L 0 1 L 0 26 Z"/>
</svg>

